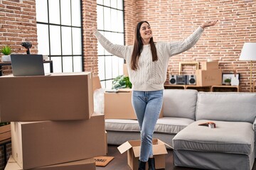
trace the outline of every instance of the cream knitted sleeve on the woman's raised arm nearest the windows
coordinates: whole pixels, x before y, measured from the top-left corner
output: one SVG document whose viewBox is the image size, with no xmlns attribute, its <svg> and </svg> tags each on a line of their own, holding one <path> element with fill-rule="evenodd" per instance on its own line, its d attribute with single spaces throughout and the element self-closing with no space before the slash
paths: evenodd
<svg viewBox="0 0 256 170">
<path fill-rule="evenodd" d="M 107 50 L 107 52 L 110 52 L 110 54 L 115 55 L 117 57 L 125 58 L 126 46 L 113 44 L 112 42 L 107 40 L 107 38 L 105 38 L 99 31 L 96 31 L 94 35 L 100 42 L 102 47 L 104 47 L 105 50 Z"/>
</svg>

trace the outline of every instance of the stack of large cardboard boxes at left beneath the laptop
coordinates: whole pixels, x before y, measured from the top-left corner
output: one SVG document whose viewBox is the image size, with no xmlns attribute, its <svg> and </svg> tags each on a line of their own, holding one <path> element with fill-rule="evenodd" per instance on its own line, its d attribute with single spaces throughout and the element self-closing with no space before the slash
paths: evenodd
<svg viewBox="0 0 256 170">
<path fill-rule="evenodd" d="M 6 169 L 96 169 L 105 117 L 94 113 L 90 72 L 0 77 L 0 94 L 0 121 L 11 122 Z"/>
</svg>

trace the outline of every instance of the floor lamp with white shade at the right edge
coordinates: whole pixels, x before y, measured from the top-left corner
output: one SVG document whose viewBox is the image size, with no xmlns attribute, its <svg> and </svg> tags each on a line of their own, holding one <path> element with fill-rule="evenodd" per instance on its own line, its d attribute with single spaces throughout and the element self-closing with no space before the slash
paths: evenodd
<svg viewBox="0 0 256 170">
<path fill-rule="evenodd" d="M 245 42 L 239 60 L 250 61 L 250 92 L 252 92 L 252 61 L 256 61 L 256 42 Z"/>
</svg>

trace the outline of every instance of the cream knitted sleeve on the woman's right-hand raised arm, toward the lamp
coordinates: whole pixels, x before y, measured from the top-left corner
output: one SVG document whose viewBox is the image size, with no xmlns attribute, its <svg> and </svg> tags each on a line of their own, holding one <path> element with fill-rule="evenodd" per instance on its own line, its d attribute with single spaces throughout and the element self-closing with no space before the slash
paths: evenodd
<svg viewBox="0 0 256 170">
<path fill-rule="evenodd" d="M 199 38 L 201 37 L 203 33 L 203 28 L 200 26 L 185 40 L 183 41 L 176 41 L 176 42 L 168 42 L 168 51 L 169 51 L 169 57 L 178 55 L 181 52 L 185 52 L 186 50 L 189 50 L 193 45 L 198 42 Z"/>
</svg>

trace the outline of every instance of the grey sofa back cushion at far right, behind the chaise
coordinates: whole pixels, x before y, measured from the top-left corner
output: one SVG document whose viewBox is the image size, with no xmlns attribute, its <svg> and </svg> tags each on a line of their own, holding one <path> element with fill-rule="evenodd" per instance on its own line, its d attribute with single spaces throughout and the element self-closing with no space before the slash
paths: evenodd
<svg viewBox="0 0 256 170">
<path fill-rule="evenodd" d="M 256 94 L 233 92 L 198 92 L 196 120 L 223 120 L 253 123 Z"/>
</svg>

